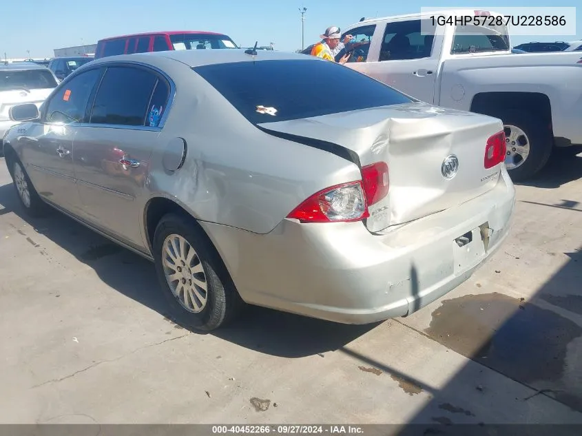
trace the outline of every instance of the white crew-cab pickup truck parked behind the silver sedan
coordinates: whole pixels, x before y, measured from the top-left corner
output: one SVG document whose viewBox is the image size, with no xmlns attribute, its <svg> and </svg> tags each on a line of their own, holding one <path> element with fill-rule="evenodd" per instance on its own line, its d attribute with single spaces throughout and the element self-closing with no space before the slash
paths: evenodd
<svg viewBox="0 0 582 436">
<path fill-rule="evenodd" d="M 505 25 L 454 18 L 472 14 L 499 15 L 362 19 L 343 32 L 354 37 L 345 65 L 420 101 L 501 118 L 514 181 L 534 176 L 557 147 L 582 152 L 582 54 L 513 54 Z"/>
</svg>

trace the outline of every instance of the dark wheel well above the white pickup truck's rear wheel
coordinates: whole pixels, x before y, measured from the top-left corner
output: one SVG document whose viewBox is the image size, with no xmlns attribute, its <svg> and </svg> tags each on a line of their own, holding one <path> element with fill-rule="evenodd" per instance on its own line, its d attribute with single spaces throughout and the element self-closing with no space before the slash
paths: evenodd
<svg viewBox="0 0 582 436">
<path fill-rule="evenodd" d="M 471 112 L 498 116 L 503 110 L 535 112 L 552 130 L 552 105 L 547 95 L 539 92 L 481 92 L 471 102 Z M 552 134 L 553 135 L 553 134 Z"/>
</svg>

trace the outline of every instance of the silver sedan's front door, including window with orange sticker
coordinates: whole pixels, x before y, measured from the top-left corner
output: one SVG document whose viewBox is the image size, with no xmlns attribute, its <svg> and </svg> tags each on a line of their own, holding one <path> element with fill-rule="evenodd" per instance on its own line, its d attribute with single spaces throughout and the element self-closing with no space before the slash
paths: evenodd
<svg viewBox="0 0 582 436">
<path fill-rule="evenodd" d="M 81 210 L 74 174 L 74 137 L 101 72 L 85 71 L 61 85 L 41 106 L 41 122 L 26 132 L 23 161 L 39 194 L 77 214 Z"/>
</svg>

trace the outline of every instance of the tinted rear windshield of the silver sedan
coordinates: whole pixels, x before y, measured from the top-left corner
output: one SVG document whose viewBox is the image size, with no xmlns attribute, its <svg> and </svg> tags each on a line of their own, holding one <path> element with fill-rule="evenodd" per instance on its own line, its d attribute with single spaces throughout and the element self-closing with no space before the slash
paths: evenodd
<svg viewBox="0 0 582 436">
<path fill-rule="evenodd" d="M 384 83 L 331 61 L 219 63 L 192 69 L 253 124 L 413 101 Z"/>
</svg>

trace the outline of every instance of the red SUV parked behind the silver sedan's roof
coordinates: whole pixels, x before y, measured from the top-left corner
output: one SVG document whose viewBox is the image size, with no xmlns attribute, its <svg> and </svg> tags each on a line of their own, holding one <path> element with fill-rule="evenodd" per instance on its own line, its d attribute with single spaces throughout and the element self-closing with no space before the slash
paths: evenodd
<svg viewBox="0 0 582 436">
<path fill-rule="evenodd" d="M 165 52 L 166 50 L 200 50 L 238 48 L 225 34 L 214 32 L 151 32 L 111 37 L 97 42 L 95 59 L 116 54 Z"/>
</svg>

